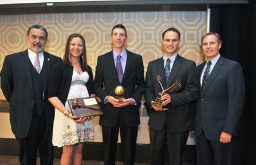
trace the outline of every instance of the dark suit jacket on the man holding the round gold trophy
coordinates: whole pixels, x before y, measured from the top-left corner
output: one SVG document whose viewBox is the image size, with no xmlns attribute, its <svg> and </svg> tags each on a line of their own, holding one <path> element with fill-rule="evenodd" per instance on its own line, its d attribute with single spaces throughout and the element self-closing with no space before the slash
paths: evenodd
<svg viewBox="0 0 256 165">
<path fill-rule="evenodd" d="M 114 96 L 117 86 L 125 88 L 125 99 L 133 98 L 138 104 L 144 94 L 144 67 L 142 56 L 127 51 L 127 60 L 122 82 L 119 82 L 117 69 L 114 65 L 113 51 L 98 57 L 96 75 L 94 78 L 95 93 L 104 102 L 106 96 Z M 100 125 L 112 128 L 118 120 L 119 113 L 126 126 L 140 124 L 138 105 L 115 108 L 112 104 L 102 105 L 104 115 L 100 117 Z"/>
</svg>

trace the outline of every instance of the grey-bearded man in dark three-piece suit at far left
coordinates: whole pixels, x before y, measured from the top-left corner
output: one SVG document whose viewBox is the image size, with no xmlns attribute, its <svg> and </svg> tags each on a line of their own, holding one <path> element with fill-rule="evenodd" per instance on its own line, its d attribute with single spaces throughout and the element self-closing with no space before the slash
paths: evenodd
<svg viewBox="0 0 256 165">
<path fill-rule="evenodd" d="M 54 108 L 47 99 L 48 78 L 59 57 L 44 52 L 47 31 L 40 25 L 28 28 L 28 49 L 5 57 L 1 88 L 10 104 L 11 130 L 19 142 L 20 164 L 53 163 L 52 125 Z"/>
</svg>

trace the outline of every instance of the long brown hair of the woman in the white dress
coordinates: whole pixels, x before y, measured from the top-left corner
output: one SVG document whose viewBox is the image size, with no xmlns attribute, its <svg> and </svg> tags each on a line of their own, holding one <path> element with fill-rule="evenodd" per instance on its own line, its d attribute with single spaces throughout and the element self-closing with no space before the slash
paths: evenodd
<svg viewBox="0 0 256 165">
<path fill-rule="evenodd" d="M 65 46 L 63 62 L 69 66 L 73 66 L 72 62 L 71 62 L 71 54 L 70 54 L 69 47 L 71 44 L 71 40 L 75 37 L 80 37 L 80 39 L 82 40 L 82 54 L 80 56 L 80 64 L 82 67 L 82 71 L 88 71 L 88 65 L 87 65 L 87 60 L 86 60 L 85 40 L 84 40 L 84 37 L 82 35 L 80 35 L 79 33 L 73 33 L 72 35 L 70 35 L 68 37 L 68 40 L 67 40 L 67 43 Z"/>
</svg>

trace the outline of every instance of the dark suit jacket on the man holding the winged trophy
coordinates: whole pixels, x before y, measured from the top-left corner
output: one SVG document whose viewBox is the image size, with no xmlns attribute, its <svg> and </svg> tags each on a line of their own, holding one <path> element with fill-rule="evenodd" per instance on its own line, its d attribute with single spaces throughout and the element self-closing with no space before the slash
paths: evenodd
<svg viewBox="0 0 256 165">
<path fill-rule="evenodd" d="M 167 123 L 167 129 L 171 133 L 184 132 L 192 127 L 191 102 L 197 99 L 199 85 L 195 74 L 196 64 L 187 60 L 179 54 L 177 55 L 174 65 L 172 66 L 167 87 L 175 81 L 181 82 L 181 88 L 177 92 L 171 92 L 171 103 L 166 105 L 168 111 L 156 112 L 151 108 L 150 120 L 148 125 L 155 130 L 162 130 L 164 123 Z M 146 73 L 146 93 L 145 99 L 148 105 L 155 101 L 162 92 L 157 76 L 162 78 L 163 87 L 165 84 L 164 60 L 163 57 L 151 61 L 148 64 Z M 166 87 L 166 88 L 167 88 Z"/>
</svg>

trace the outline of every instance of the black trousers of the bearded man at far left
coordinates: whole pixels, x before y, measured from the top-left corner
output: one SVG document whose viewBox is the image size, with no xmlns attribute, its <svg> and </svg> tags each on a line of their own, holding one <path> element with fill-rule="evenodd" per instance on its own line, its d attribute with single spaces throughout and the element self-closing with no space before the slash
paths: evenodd
<svg viewBox="0 0 256 165">
<path fill-rule="evenodd" d="M 36 165 L 39 149 L 40 164 L 53 164 L 52 126 L 47 124 L 46 113 L 33 113 L 27 137 L 16 137 L 19 142 L 19 162 L 22 165 Z"/>
</svg>

